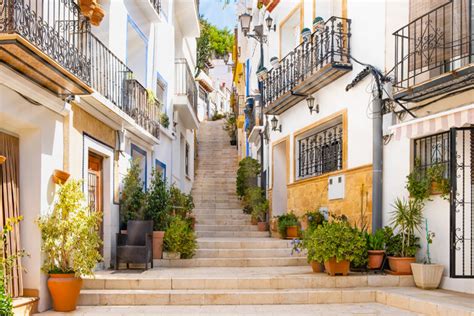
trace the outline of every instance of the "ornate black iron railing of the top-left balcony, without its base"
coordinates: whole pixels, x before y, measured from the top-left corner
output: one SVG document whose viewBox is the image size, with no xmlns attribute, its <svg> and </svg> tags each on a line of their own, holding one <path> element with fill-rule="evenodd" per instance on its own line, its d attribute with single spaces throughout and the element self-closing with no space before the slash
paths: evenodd
<svg viewBox="0 0 474 316">
<path fill-rule="evenodd" d="M 0 33 L 21 35 L 88 85 L 89 32 L 73 0 L 0 0 Z"/>
</svg>

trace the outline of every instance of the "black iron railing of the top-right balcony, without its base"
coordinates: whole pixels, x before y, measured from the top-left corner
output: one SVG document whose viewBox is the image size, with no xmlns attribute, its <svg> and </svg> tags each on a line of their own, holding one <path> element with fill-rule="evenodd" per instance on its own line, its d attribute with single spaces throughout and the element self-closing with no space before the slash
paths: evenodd
<svg viewBox="0 0 474 316">
<path fill-rule="evenodd" d="M 474 60 L 474 0 L 450 0 L 393 33 L 394 86 L 409 88 Z"/>
</svg>

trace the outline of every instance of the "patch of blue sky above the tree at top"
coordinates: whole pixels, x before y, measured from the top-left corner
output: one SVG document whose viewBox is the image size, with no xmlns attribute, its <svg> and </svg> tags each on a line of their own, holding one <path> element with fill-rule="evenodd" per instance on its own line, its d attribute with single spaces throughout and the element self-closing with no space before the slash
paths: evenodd
<svg viewBox="0 0 474 316">
<path fill-rule="evenodd" d="M 235 6 L 233 0 L 229 4 L 225 4 L 225 0 L 201 0 L 199 11 L 212 24 L 232 31 L 237 23 Z"/>
</svg>

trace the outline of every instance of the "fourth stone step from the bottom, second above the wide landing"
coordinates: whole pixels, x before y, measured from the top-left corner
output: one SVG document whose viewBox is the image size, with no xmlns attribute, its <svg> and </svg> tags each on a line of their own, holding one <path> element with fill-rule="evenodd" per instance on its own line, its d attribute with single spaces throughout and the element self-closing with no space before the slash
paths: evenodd
<svg viewBox="0 0 474 316">
<path fill-rule="evenodd" d="M 273 258 L 273 257 L 303 257 L 305 254 L 291 255 L 291 248 L 270 249 L 206 249 L 196 251 L 194 258 Z"/>
</svg>

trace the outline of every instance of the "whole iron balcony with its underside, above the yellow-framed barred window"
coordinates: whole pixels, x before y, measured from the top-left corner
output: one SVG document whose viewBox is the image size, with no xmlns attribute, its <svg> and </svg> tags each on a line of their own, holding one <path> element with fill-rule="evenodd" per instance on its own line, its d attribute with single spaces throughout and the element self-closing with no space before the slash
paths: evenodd
<svg viewBox="0 0 474 316">
<path fill-rule="evenodd" d="M 352 70 L 351 20 L 331 17 L 271 69 L 263 82 L 267 114 L 281 114 Z M 295 95 L 297 94 L 297 95 Z"/>
</svg>

